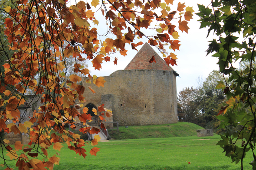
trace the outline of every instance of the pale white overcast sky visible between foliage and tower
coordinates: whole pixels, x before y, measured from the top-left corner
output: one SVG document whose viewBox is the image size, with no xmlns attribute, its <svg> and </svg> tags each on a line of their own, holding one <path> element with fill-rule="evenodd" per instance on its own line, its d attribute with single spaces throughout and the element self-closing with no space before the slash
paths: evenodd
<svg viewBox="0 0 256 170">
<path fill-rule="evenodd" d="M 178 2 L 179 1 L 176 0 L 176 2 L 174 1 L 174 4 Z M 206 6 L 210 4 L 210 0 L 181 0 L 181 3 L 184 2 L 186 6 L 193 6 L 195 13 L 198 12 L 197 3 L 204 4 Z M 219 69 L 216 64 L 218 62 L 217 58 L 210 57 L 210 55 L 206 57 L 205 51 L 208 48 L 208 41 L 212 40 L 212 36 L 210 35 L 206 38 L 207 29 L 199 29 L 200 22 L 197 22 L 199 17 L 194 15 L 193 18 L 194 19 L 190 20 L 188 24 L 190 28 L 188 30 L 188 34 L 185 32 L 179 32 L 180 37 L 178 40 L 181 41 L 180 51 L 169 51 L 174 52 L 178 58 L 178 66 L 172 66 L 172 68 L 180 74 L 180 77 L 177 77 L 177 93 L 185 87 L 196 87 L 198 77 L 206 78 L 211 71 Z M 142 45 L 138 46 L 137 49 L 139 50 L 141 47 Z M 127 56 L 125 57 L 122 55 L 116 55 L 116 57 L 118 57 L 117 65 L 114 65 L 114 59 L 112 56 L 112 60 L 110 62 L 104 62 L 102 64 L 102 69 L 100 71 L 94 70 L 91 61 L 89 61 L 87 64 L 89 65 L 91 74 L 96 74 L 97 76 L 108 76 L 114 71 L 125 69 L 137 53 L 135 50 L 127 50 Z M 161 54 L 159 55 L 162 56 Z"/>
</svg>

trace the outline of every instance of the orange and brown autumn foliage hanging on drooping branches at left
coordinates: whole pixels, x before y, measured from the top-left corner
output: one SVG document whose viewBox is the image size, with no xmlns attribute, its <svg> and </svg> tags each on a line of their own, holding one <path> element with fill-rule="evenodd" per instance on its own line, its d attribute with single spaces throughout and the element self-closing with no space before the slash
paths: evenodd
<svg viewBox="0 0 256 170">
<path fill-rule="evenodd" d="M 70 150 L 85 158 L 83 146 L 89 143 L 95 146 L 99 138 L 96 135 L 92 142 L 85 142 L 64 126 L 70 124 L 75 128 L 78 125 L 74 119 L 78 117 L 83 122 L 80 132 L 98 134 L 97 127 L 86 123 L 92 119 L 87 114 L 88 109 L 78 112 L 77 108 L 83 106 L 76 102 L 85 103 L 85 88 L 95 93 L 90 83 L 104 87 L 105 80 L 90 75 L 77 61 L 91 61 L 93 67 L 100 70 L 102 62 L 113 60 L 117 64 L 118 58 L 113 58 L 113 54 L 125 56 L 128 46 L 137 50 L 143 42 L 136 40 L 147 38 L 150 45 L 159 49 L 167 64 L 176 64 L 176 55 L 165 49 L 179 50 L 178 30 L 188 32 L 187 21 L 192 19 L 194 11 L 184 3 L 172 4 L 173 0 L 106 0 L 104 3 L 92 0 L 74 5 L 67 4 L 67 0 L 19 0 L 5 7 L 1 11 L 6 16 L 5 42 L 10 44 L 13 55 L 8 55 L 8 51 L 3 53 L 7 61 L 3 63 L 0 84 L 0 131 L 28 133 L 30 143 L 24 146 L 16 142 L 11 148 L 7 140 L 0 140 L 1 147 L 8 152 L 1 157 L 16 160 L 20 170 L 53 169 L 59 157 L 50 157 L 48 149 L 52 145 L 60 151 L 62 143 L 66 142 Z M 106 33 L 102 35 L 99 32 L 104 26 L 98 26 L 96 11 L 97 17 L 104 16 L 106 23 Z M 147 35 L 146 29 L 155 29 L 157 34 Z M 5 42 L 0 43 L 4 46 Z M 75 58 L 71 75 L 66 74 L 67 58 Z M 153 61 L 154 58 L 150 62 Z M 32 100 L 27 96 L 32 96 Z M 27 112 L 21 113 L 18 108 L 29 107 L 37 99 L 41 105 L 29 121 L 24 122 Z M 98 106 L 97 116 L 104 119 L 102 115 L 112 116 L 103 104 Z M 102 124 L 101 128 L 105 126 Z M 92 147 L 89 153 L 96 156 L 98 151 L 99 148 Z M 44 158 L 39 160 L 38 155 Z M 4 164 L 7 166 L 6 162 Z"/>
</svg>

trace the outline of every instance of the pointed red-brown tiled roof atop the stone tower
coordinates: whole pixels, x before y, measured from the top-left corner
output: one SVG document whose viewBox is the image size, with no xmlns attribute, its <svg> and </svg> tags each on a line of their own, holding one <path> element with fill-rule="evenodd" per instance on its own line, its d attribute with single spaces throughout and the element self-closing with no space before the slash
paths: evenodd
<svg viewBox="0 0 256 170">
<path fill-rule="evenodd" d="M 149 60 L 154 55 L 155 62 L 150 63 Z M 135 57 L 131 60 L 131 62 L 125 67 L 125 70 L 135 70 L 135 69 L 143 69 L 143 70 L 167 70 L 173 71 L 173 69 L 166 64 L 164 59 L 162 59 L 156 51 L 148 44 L 145 43 L 140 51 L 135 55 Z"/>
</svg>

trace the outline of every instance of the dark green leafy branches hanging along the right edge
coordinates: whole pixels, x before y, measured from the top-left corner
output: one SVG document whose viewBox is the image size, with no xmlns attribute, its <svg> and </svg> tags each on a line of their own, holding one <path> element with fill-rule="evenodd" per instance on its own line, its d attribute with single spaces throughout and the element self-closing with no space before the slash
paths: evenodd
<svg viewBox="0 0 256 170">
<path fill-rule="evenodd" d="M 241 163 L 252 150 L 256 169 L 256 0 L 212 0 L 209 6 L 198 5 L 201 27 L 217 36 L 210 41 L 207 55 L 219 59 L 220 73 L 228 76 L 217 88 L 224 90 L 226 101 L 220 109 L 219 128 L 226 128 L 220 145 L 233 162 Z M 234 67 L 235 62 L 249 65 L 243 71 Z M 248 164 L 247 163 L 247 164 Z"/>
</svg>

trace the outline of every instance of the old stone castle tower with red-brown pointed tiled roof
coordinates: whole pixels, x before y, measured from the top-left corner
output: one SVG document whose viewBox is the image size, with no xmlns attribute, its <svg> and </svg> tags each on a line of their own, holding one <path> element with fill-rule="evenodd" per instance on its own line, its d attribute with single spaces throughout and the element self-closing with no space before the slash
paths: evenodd
<svg viewBox="0 0 256 170">
<path fill-rule="evenodd" d="M 149 62 L 153 55 L 156 63 Z M 95 95 L 85 88 L 84 106 L 92 112 L 92 108 L 105 104 L 113 111 L 107 122 L 117 121 L 119 125 L 177 123 L 177 76 L 145 43 L 125 70 L 105 76 L 104 87 L 92 84 Z"/>
</svg>

